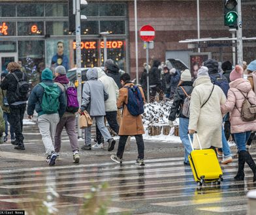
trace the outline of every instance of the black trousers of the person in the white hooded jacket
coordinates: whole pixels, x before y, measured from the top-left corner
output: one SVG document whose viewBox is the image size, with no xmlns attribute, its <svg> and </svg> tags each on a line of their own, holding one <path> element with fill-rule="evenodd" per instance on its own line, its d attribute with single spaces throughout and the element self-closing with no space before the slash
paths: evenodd
<svg viewBox="0 0 256 215">
<path fill-rule="evenodd" d="M 118 125 L 118 121 L 116 120 L 116 115 L 117 115 L 117 111 L 106 111 L 106 121 L 108 121 L 110 128 L 112 128 L 112 130 L 114 130 L 114 132 L 118 134 L 119 125 Z M 97 139 L 97 143 L 99 144 L 104 142 L 103 136 L 101 135 L 101 132 L 99 131 L 99 128 L 97 125 L 96 125 L 96 139 Z"/>
</svg>

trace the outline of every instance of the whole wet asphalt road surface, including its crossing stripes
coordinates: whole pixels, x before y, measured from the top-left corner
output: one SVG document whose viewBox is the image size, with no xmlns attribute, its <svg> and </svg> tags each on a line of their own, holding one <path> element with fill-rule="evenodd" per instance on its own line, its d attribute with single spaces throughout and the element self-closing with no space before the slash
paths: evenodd
<svg viewBox="0 0 256 215">
<path fill-rule="evenodd" d="M 48 167 L 37 126 L 26 125 L 24 134 L 25 151 L 14 151 L 10 142 L 0 145 L 0 209 L 38 210 L 46 201 L 57 209 L 56 214 L 95 214 L 97 205 L 104 209 L 105 204 L 109 214 L 246 214 L 246 194 L 256 188 L 248 166 L 244 182 L 232 180 L 237 160 L 221 166 L 221 186 L 199 188 L 190 167 L 183 164 L 183 148 L 178 143 L 147 141 L 144 167 L 134 165 L 133 140 L 123 165 L 110 160 L 113 152 L 101 149 L 80 151 L 76 165 L 63 134 L 60 158 Z M 256 159 L 255 149 L 251 153 Z M 104 182 L 108 187 L 99 189 Z M 88 201 L 91 210 L 83 211 Z"/>
</svg>

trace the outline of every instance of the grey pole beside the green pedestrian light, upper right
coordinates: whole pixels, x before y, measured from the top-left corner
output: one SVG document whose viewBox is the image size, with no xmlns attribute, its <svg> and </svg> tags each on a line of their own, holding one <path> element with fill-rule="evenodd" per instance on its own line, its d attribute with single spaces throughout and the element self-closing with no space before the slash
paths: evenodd
<svg viewBox="0 0 256 215">
<path fill-rule="evenodd" d="M 242 6 L 241 0 L 237 1 L 238 12 L 238 29 L 236 31 L 237 38 L 237 64 L 243 66 L 243 40 L 242 40 Z"/>
</svg>

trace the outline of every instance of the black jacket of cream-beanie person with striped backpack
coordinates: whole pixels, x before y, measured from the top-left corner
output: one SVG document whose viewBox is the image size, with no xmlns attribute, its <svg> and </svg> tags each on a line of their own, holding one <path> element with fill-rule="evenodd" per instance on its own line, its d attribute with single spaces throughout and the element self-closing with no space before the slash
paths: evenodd
<svg viewBox="0 0 256 215">
<path fill-rule="evenodd" d="M 182 118 L 187 118 L 182 114 L 182 105 L 184 104 L 184 100 L 186 95 L 184 91 L 182 91 L 182 86 L 185 92 L 190 95 L 193 91 L 193 82 L 192 81 L 184 81 L 181 85 L 179 85 L 174 93 L 174 100 L 172 103 L 172 107 L 170 108 L 170 114 L 168 120 L 174 121 L 176 116 L 179 115 Z"/>
</svg>

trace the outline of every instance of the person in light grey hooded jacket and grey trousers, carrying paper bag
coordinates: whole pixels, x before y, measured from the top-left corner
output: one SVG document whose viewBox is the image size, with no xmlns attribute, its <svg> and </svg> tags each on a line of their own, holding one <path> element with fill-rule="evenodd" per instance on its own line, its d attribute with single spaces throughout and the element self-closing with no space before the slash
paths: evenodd
<svg viewBox="0 0 256 215">
<path fill-rule="evenodd" d="M 116 141 L 112 138 L 104 124 L 104 115 L 106 115 L 104 101 L 108 99 L 108 94 L 104 89 L 103 83 L 97 80 L 97 68 L 90 68 L 86 72 L 86 77 L 88 81 L 84 83 L 82 105 L 78 113 L 82 114 L 86 110 L 91 119 L 95 118 L 97 127 L 104 137 L 104 140 L 108 141 L 108 151 L 112 151 Z M 91 150 L 91 126 L 86 128 L 86 141 L 81 149 Z"/>
</svg>

